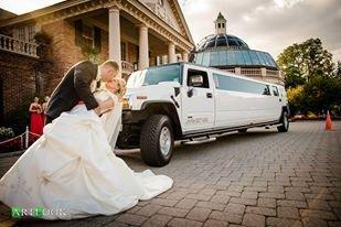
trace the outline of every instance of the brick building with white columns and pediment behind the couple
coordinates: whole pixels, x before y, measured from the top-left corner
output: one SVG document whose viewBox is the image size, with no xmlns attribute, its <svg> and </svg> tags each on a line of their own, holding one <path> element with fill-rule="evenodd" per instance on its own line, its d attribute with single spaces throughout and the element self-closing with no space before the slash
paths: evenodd
<svg viewBox="0 0 341 227">
<path fill-rule="evenodd" d="M 0 18 L 0 54 L 7 60 L 0 65 L 3 112 L 21 102 L 12 100 L 23 99 L 23 94 L 15 98 L 4 91 L 14 86 L 6 71 L 15 67 L 15 57 L 31 61 L 21 61 L 23 65 L 34 62 L 32 93 L 50 95 L 67 69 L 85 58 L 98 64 L 114 60 L 126 77 L 148 66 L 188 61 L 194 48 L 177 0 L 68 0 L 22 15 L 7 14 Z M 12 76 L 18 77 L 15 72 Z"/>
</svg>

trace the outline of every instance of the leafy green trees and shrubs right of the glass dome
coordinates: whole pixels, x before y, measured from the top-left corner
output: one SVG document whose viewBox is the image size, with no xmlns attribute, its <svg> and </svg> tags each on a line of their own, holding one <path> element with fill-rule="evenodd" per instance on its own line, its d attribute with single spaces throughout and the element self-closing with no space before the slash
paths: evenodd
<svg viewBox="0 0 341 227">
<path fill-rule="evenodd" d="M 332 54 L 323 48 L 320 39 L 292 44 L 279 54 L 277 64 L 286 75 L 289 105 L 292 114 L 340 112 L 341 63 L 332 63 Z"/>
</svg>

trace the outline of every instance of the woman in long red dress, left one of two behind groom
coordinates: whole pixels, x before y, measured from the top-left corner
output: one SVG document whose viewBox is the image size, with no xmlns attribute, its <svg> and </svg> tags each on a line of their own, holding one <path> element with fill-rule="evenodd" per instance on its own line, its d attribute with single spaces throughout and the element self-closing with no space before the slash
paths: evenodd
<svg viewBox="0 0 341 227">
<path fill-rule="evenodd" d="M 43 134 L 43 118 L 42 118 L 42 106 L 39 104 L 39 98 L 34 97 L 34 102 L 30 105 L 31 112 L 31 127 L 30 131 L 35 134 Z"/>
</svg>

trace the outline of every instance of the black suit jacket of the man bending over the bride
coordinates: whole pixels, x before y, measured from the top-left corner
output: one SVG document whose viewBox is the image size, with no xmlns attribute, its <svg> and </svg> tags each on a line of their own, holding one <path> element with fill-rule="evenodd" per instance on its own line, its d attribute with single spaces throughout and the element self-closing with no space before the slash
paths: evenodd
<svg viewBox="0 0 341 227">
<path fill-rule="evenodd" d="M 98 107 L 90 90 L 90 83 L 96 79 L 97 66 L 89 61 L 75 64 L 63 77 L 51 95 L 46 108 L 46 123 L 84 101 L 88 110 Z"/>
</svg>

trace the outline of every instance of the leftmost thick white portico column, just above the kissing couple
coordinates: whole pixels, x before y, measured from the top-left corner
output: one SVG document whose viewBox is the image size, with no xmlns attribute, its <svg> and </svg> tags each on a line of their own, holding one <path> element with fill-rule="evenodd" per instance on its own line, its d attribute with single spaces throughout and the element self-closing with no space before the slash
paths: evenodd
<svg viewBox="0 0 341 227">
<path fill-rule="evenodd" d="M 109 58 L 117 62 L 121 68 L 119 9 L 109 9 Z"/>
</svg>

